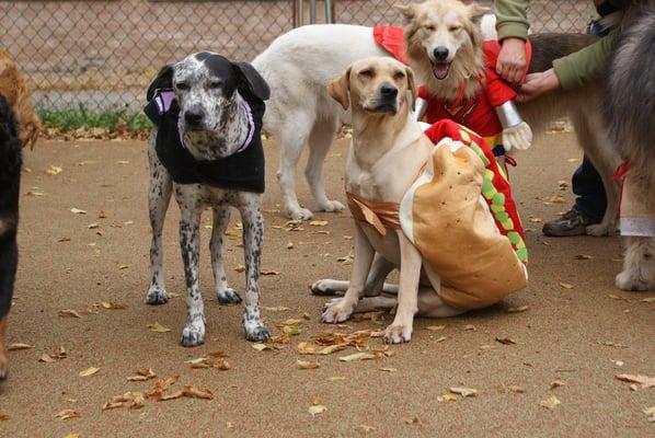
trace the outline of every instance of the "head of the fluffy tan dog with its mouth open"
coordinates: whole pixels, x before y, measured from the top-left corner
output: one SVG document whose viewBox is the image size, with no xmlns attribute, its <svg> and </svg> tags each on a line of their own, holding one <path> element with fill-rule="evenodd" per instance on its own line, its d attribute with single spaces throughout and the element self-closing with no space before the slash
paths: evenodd
<svg viewBox="0 0 655 438">
<path fill-rule="evenodd" d="M 428 0 L 395 7 L 405 19 L 405 39 L 411 66 L 432 93 L 447 100 L 471 97 L 482 89 L 478 78 L 484 76 L 484 59 L 480 44 L 479 20 L 489 12 L 476 3 L 458 0 Z M 430 54 L 437 46 L 451 53 L 448 77 L 437 80 L 433 73 Z"/>
</svg>

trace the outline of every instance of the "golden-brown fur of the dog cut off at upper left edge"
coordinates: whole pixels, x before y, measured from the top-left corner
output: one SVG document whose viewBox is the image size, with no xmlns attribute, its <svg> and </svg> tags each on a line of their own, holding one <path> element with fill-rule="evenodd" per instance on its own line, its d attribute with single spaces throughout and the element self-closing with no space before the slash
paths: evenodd
<svg viewBox="0 0 655 438">
<path fill-rule="evenodd" d="M 3 49 L 0 49 L 0 95 L 13 110 L 21 145 L 34 147 L 41 131 L 41 120 L 34 112 L 32 90 L 9 53 Z"/>
</svg>

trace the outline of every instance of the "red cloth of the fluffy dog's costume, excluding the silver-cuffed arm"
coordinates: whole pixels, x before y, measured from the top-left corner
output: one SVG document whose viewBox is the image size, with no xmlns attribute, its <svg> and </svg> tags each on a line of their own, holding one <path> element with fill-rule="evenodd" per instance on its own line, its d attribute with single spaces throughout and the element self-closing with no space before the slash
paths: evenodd
<svg viewBox="0 0 655 438">
<path fill-rule="evenodd" d="M 374 27 L 376 42 L 403 64 L 407 64 L 403 28 L 399 26 Z M 484 138 L 493 148 L 495 157 L 505 154 L 503 148 L 503 124 L 497 115 L 497 108 L 510 103 L 516 97 L 516 92 L 504 82 L 496 73 L 496 61 L 501 51 L 497 41 L 485 41 L 484 50 L 485 72 L 479 78 L 484 83 L 483 91 L 470 99 L 458 96 L 453 102 L 448 102 L 430 95 L 425 87 L 418 90 L 418 96 L 427 101 L 425 122 L 434 124 L 444 118 L 451 119 L 460 125 L 474 130 Z M 531 46 L 526 44 L 528 64 L 531 58 Z M 462 90 L 463 92 L 463 90 Z"/>
</svg>

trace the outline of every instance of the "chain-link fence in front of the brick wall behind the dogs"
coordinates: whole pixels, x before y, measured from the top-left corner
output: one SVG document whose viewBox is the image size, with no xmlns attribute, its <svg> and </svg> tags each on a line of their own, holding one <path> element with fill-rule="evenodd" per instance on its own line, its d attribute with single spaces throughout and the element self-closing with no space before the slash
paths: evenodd
<svg viewBox="0 0 655 438">
<path fill-rule="evenodd" d="M 399 23 L 402 0 L 334 0 L 336 23 Z M 161 66 L 199 51 L 251 60 L 309 22 L 309 3 L 238 1 L 0 1 L 0 46 L 31 81 L 36 106 L 139 108 Z M 481 1 L 490 5 L 491 1 Z M 317 9 L 323 21 L 323 4 Z M 583 32 L 589 0 L 531 1 L 533 32 Z"/>
</svg>

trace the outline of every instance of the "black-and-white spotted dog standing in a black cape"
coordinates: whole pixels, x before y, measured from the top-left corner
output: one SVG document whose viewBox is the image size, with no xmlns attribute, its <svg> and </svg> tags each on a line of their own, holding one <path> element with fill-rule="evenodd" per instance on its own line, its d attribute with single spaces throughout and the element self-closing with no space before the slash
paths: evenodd
<svg viewBox="0 0 655 438">
<path fill-rule="evenodd" d="M 234 207 L 243 222 L 245 337 L 257 342 L 269 337 L 260 316 L 257 284 L 264 228 L 264 151 L 260 130 L 268 96 L 268 85 L 251 65 L 231 62 L 211 53 L 194 54 L 163 67 L 148 88 L 149 104 L 145 111 L 156 127 L 148 145 L 152 279 L 146 301 L 168 301 L 161 234 L 174 191 L 181 210 L 180 245 L 187 288 L 187 320 L 181 337 L 185 347 L 205 341 L 198 288 L 199 224 L 205 206 L 214 211 L 209 247 L 218 301 L 241 302 L 228 286 L 221 254 L 230 207 Z"/>
</svg>

